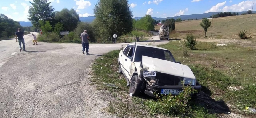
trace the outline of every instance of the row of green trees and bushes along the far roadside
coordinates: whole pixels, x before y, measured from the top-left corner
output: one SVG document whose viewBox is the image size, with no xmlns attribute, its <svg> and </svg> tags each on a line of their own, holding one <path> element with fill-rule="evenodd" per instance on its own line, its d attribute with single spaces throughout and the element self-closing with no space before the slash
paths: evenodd
<svg viewBox="0 0 256 118">
<path fill-rule="evenodd" d="M 80 34 L 84 30 L 87 30 L 91 42 L 104 42 L 113 34 L 117 34 L 118 37 L 131 35 L 132 30 L 135 29 L 149 32 L 154 30 L 154 23 L 157 22 L 150 15 L 145 15 L 140 21 L 134 21 L 128 0 L 97 1 L 93 8 L 96 18 L 92 23 L 81 22 L 74 9 L 64 8 L 55 12 L 48 0 L 33 0 L 30 3 L 28 20 L 35 27 L 32 30 L 42 29 L 42 40 L 49 42 L 81 42 Z M 26 29 L 31 30 L 29 27 Z M 70 33 L 62 36 L 60 31 Z M 55 36 L 58 37 L 55 38 Z"/>
</svg>

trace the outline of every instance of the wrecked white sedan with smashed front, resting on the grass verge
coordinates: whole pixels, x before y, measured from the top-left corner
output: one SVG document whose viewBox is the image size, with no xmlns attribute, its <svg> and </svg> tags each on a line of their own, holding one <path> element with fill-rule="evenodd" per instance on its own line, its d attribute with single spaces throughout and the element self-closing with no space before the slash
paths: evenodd
<svg viewBox="0 0 256 118">
<path fill-rule="evenodd" d="M 161 47 L 128 44 L 120 51 L 118 63 L 118 72 L 124 74 L 132 96 L 141 92 L 151 97 L 155 92 L 178 95 L 183 92 L 182 82 L 198 93 L 202 88 L 191 69 L 176 62 L 172 53 Z"/>
</svg>

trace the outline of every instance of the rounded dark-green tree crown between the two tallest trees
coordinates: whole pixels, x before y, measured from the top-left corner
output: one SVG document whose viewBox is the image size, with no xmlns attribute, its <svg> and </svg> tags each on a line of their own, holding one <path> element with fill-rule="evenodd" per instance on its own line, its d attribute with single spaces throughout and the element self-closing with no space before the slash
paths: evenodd
<svg viewBox="0 0 256 118">
<path fill-rule="evenodd" d="M 76 29 L 79 20 L 79 15 L 75 9 L 68 10 L 63 8 L 60 12 L 55 13 L 55 19 L 63 24 L 63 30 L 73 31 Z"/>
</svg>

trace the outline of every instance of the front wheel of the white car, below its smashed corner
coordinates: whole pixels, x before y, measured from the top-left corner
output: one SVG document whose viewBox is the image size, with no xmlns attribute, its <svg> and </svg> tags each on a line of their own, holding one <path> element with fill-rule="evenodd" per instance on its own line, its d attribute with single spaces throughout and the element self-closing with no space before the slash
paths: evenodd
<svg viewBox="0 0 256 118">
<path fill-rule="evenodd" d="M 130 83 L 129 92 L 132 93 L 132 96 L 139 96 L 141 90 L 142 82 L 138 80 L 138 75 L 134 75 L 132 77 Z"/>
</svg>

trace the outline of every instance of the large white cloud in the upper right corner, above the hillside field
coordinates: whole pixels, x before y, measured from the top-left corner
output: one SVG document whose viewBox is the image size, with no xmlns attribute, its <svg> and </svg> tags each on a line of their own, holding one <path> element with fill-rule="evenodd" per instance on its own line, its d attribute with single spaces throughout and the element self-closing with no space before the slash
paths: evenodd
<svg viewBox="0 0 256 118">
<path fill-rule="evenodd" d="M 255 3 L 256 0 L 242 1 L 238 4 L 233 4 L 231 6 L 225 6 L 221 11 L 222 12 L 242 12 L 242 11 L 252 10 L 252 3 L 253 2 Z"/>
</svg>

